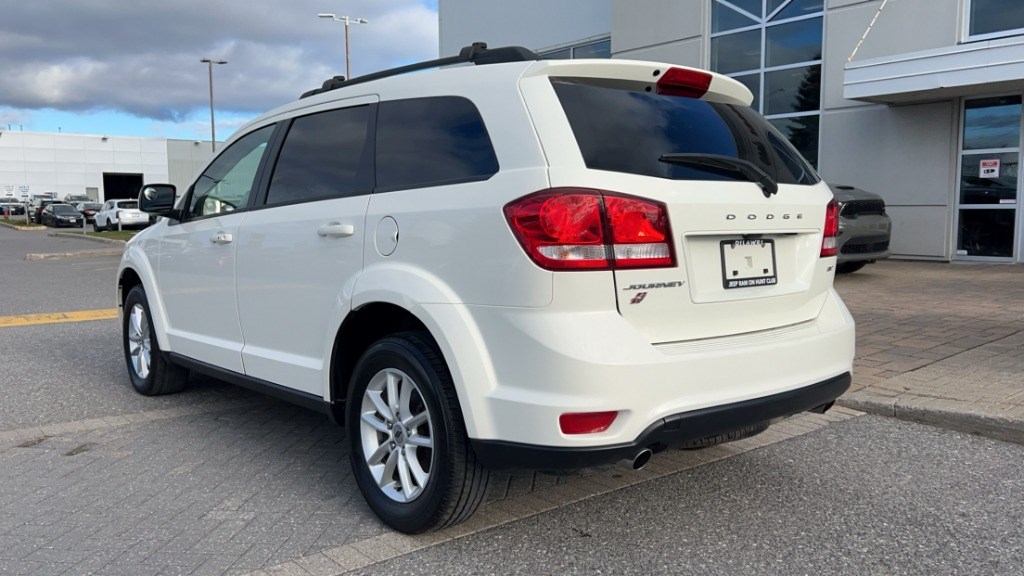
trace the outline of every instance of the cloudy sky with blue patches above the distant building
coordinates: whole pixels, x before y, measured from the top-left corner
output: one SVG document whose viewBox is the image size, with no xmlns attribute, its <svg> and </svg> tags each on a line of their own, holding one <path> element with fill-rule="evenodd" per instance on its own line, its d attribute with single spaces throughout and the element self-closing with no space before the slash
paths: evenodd
<svg viewBox="0 0 1024 576">
<path fill-rule="evenodd" d="M 0 129 L 217 137 L 344 74 L 437 57 L 437 0 L 0 0 Z"/>
</svg>

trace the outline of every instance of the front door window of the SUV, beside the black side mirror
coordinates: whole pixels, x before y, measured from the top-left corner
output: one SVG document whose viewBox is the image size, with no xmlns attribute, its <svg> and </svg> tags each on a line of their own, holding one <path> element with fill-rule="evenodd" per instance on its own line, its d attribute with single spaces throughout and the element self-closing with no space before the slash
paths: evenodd
<svg viewBox="0 0 1024 576">
<path fill-rule="evenodd" d="M 225 149 L 196 180 L 188 214 L 193 217 L 245 208 L 256 184 L 256 172 L 273 134 L 264 126 Z"/>
</svg>

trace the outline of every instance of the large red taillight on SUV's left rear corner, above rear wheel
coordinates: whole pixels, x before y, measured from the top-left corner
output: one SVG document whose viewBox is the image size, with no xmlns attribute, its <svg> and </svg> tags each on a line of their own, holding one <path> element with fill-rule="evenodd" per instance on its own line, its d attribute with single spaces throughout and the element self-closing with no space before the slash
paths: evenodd
<svg viewBox="0 0 1024 576">
<path fill-rule="evenodd" d="M 587 189 L 551 189 L 505 206 L 526 254 L 546 270 L 676 264 L 665 204 Z"/>
</svg>

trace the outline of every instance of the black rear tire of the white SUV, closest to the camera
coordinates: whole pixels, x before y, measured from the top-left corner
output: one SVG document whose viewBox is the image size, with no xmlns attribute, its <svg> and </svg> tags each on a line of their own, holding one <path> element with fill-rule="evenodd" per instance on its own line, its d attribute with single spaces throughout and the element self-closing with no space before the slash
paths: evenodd
<svg viewBox="0 0 1024 576">
<path fill-rule="evenodd" d="M 389 375 L 397 378 L 395 389 L 398 389 L 397 386 L 411 385 L 410 389 L 413 390 L 404 397 L 404 402 L 410 405 L 409 410 L 399 407 L 399 413 L 396 417 L 392 415 L 391 420 L 387 416 L 377 418 L 382 412 L 374 408 L 367 411 L 368 417 L 374 418 L 378 426 L 388 422 L 387 430 L 364 424 L 362 421 L 364 401 L 371 402 L 367 395 L 368 387 L 372 383 L 376 387 L 381 382 L 382 375 L 385 379 Z M 387 389 L 387 399 L 383 396 L 378 398 L 390 406 L 391 388 Z M 411 414 L 422 414 L 424 411 L 429 417 L 428 423 L 409 428 L 404 424 L 398 425 L 398 422 L 412 420 Z M 355 365 L 345 412 L 349 459 L 355 482 L 370 508 L 385 524 L 399 532 L 417 534 L 459 524 L 472 516 L 480 505 L 489 475 L 476 461 L 466 436 L 452 375 L 428 334 L 402 332 L 382 338 L 371 345 Z M 390 424 L 392 421 L 393 428 Z M 399 427 L 402 430 L 400 434 Z M 424 431 L 429 436 L 429 449 L 414 446 L 414 438 L 418 437 L 420 442 L 427 438 L 422 436 Z M 380 483 L 374 479 L 368 462 L 372 458 L 368 451 L 375 444 L 379 446 L 374 453 L 382 454 L 379 458 L 382 468 Z M 366 446 L 370 448 L 365 448 Z M 409 451 L 411 446 L 412 455 Z M 430 452 L 429 457 L 426 450 Z M 395 460 L 388 475 L 388 462 L 392 462 L 392 454 Z M 417 483 L 409 482 L 407 487 L 401 486 L 399 468 L 404 468 L 407 479 L 414 478 L 410 476 L 412 464 L 403 464 L 403 461 L 419 466 L 421 475 L 427 472 L 423 485 L 410 487 L 409 485 Z M 429 469 L 423 469 L 424 462 Z M 388 481 L 392 482 L 385 486 Z M 403 489 L 418 493 L 408 501 L 400 501 L 398 498 L 409 497 L 402 493 Z M 389 495 L 389 491 L 393 495 Z"/>
</svg>

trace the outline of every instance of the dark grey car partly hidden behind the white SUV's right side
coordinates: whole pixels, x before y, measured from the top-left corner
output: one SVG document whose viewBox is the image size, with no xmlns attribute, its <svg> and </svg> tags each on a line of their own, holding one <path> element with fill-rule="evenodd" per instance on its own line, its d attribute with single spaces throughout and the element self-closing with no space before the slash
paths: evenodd
<svg viewBox="0 0 1024 576">
<path fill-rule="evenodd" d="M 839 203 L 840 274 L 857 272 L 865 265 L 889 257 L 892 220 L 886 214 L 886 201 L 870 192 L 845 184 L 828 184 Z"/>
</svg>

